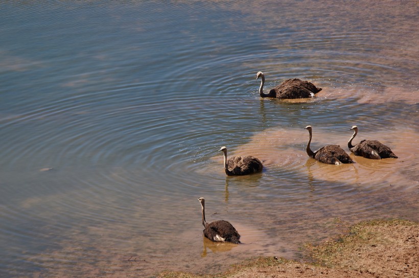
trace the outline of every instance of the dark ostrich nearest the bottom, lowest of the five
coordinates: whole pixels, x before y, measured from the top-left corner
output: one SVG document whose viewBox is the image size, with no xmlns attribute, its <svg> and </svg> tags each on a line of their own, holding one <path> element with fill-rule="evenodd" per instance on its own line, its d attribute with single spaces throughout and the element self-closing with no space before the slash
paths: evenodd
<svg viewBox="0 0 419 278">
<path fill-rule="evenodd" d="M 211 223 L 205 221 L 205 199 L 198 198 L 202 207 L 202 225 L 204 225 L 204 236 L 212 241 L 240 243 L 240 235 L 237 230 L 225 220 L 218 220 Z"/>
</svg>

